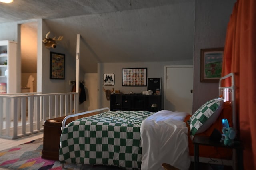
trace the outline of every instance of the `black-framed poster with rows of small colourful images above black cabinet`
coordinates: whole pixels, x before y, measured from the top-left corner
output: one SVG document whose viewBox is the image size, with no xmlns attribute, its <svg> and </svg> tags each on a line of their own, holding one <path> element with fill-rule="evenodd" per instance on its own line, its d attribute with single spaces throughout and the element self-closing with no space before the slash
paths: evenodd
<svg viewBox="0 0 256 170">
<path fill-rule="evenodd" d="M 122 86 L 147 86 L 147 68 L 122 69 Z"/>
</svg>

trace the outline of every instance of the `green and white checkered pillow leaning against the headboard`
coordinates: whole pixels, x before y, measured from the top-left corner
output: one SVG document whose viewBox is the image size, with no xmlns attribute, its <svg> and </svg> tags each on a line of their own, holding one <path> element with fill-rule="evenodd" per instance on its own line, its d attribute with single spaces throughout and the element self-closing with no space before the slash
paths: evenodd
<svg viewBox="0 0 256 170">
<path fill-rule="evenodd" d="M 223 109 L 223 103 L 220 97 L 207 101 L 190 117 L 191 139 L 195 134 L 207 130 L 216 121 Z"/>
</svg>

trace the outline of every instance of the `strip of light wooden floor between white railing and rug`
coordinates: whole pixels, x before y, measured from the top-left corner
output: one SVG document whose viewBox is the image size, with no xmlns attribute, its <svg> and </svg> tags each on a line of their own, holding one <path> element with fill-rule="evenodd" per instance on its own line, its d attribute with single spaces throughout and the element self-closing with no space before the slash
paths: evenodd
<svg viewBox="0 0 256 170">
<path fill-rule="evenodd" d="M 14 139 L 14 140 L 0 138 L 0 151 L 12 148 L 14 146 L 18 146 L 20 144 L 29 142 L 31 140 L 36 140 L 42 137 L 43 137 L 43 132 L 38 132 L 36 134 L 32 134 L 32 135 Z"/>
</svg>

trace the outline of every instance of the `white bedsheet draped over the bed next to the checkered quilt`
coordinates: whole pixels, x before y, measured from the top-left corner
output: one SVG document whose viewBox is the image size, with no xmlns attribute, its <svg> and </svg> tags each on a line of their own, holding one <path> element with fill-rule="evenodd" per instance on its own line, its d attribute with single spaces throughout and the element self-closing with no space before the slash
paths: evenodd
<svg viewBox="0 0 256 170">
<path fill-rule="evenodd" d="M 141 170 L 162 170 L 168 163 L 181 170 L 188 170 L 188 128 L 185 112 L 161 110 L 146 118 L 140 127 L 142 145 Z"/>
</svg>

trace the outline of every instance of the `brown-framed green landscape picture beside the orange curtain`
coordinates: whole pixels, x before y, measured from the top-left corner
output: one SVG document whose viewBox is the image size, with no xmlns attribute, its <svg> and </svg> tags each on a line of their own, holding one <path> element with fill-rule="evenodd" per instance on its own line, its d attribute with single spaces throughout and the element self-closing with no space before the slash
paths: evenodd
<svg viewBox="0 0 256 170">
<path fill-rule="evenodd" d="M 218 82 L 221 77 L 224 48 L 201 49 L 201 82 Z"/>
</svg>

